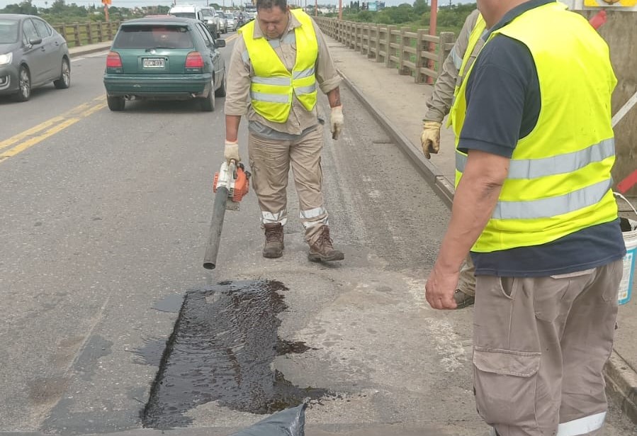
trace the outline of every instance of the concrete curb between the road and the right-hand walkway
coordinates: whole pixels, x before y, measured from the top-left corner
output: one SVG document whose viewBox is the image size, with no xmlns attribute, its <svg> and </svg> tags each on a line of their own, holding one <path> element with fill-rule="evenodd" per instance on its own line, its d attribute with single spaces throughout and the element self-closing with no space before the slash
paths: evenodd
<svg viewBox="0 0 637 436">
<path fill-rule="evenodd" d="M 453 184 L 442 175 L 436 165 L 424 158 L 419 148 L 400 133 L 400 130 L 382 112 L 378 111 L 340 70 L 339 74 L 356 98 L 383 126 L 407 158 L 415 164 L 436 194 L 451 208 L 453 194 L 455 193 Z M 609 396 L 621 407 L 621 410 L 626 413 L 628 418 L 637 424 L 637 372 L 613 350 L 604 368 L 604 378 L 607 382 L 607 393 Z"/>
</svg>

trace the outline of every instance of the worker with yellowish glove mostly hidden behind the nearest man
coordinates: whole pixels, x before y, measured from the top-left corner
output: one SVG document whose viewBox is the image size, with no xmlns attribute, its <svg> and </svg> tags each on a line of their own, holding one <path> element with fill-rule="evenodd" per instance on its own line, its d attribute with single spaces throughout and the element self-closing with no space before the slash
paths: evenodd
<svg viewBox="0 0 637 436">
<path fill-rule="evenodd" d="M 440 128 L 444 117 L 449 113 L 466 72 L 483 46 L 480 38 L 486 31 L 485 21 L 478 9 L 466 18 L 456 43 L 447 56 L 442 72 L 436 79 L 432 96 L 427 100 L 427 113 L 422 120 L 420 142 L 422 152 L 427 159 L 440 149 Z M 451 123 L 451 119 L 449 120 Z M 467 256 L 458 279 L 458 288 L 453 294 L 456 308 L 466 308 L 475 301 L 475 269 L 471 257 Z"/>
</svg>

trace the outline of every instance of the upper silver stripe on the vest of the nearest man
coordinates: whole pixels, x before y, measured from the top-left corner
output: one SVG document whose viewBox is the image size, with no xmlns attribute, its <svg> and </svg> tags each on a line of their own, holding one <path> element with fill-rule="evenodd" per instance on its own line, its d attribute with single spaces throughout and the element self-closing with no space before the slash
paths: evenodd
<svg viewBox="0 0 637 436">
<path fill-rule="evenodd" d="M 507 179 L 536 179 L 577 171 L 592 162 L 602 162 L 615 154 L 614 138 L 602 140 L 584 150 L 541 159 L 519 159 L 509 162 Z M 456 150 L 456 169 L 464 172 L 467 156 Z"/>
</svg>

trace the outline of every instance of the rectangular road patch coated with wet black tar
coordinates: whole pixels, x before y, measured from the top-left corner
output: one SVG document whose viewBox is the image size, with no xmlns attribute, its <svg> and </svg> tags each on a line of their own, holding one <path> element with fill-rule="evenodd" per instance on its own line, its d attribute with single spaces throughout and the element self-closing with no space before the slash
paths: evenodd
<svg viewBox="0 0 637 436">
<path fill-rule="evenodd" d="M 285 311 L 278 281 L 225 281 L 189 291 L 143 411 L 144 427 L 185 427 L 186 412 L 218 401 L 243 412 L 269 414 L 317 400 L 325 389 L 300 388 L 272 370 L 276 356 L 303 353 L 303 342 L 278 338 Z M 152 364 L 152 347 L 138 350 Z"/>
</svg>

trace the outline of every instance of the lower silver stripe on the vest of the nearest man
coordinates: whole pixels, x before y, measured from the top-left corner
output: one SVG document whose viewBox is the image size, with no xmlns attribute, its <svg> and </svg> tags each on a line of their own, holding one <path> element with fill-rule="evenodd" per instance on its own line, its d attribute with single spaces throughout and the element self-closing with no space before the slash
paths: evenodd
<svg viewBox="0 0 637 436">
<path fill-rule="evenodd" d="M 611 189 L 612 179 L 599 181 L 568 194 L 531 201 L 498 201 L 491 218 L 496 220 L 524 220 L 534 218 L 551 218 L 587 206 L 592 206 L 602 199 Z"/>
</svg>

